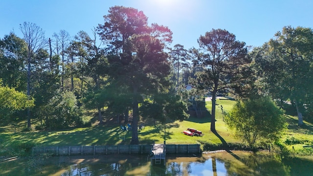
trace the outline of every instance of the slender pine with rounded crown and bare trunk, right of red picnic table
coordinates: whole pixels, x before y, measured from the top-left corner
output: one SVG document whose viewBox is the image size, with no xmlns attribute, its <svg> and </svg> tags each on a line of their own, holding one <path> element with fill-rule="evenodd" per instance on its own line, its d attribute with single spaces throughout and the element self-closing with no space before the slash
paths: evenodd
<svg viewBox="0 0 313 176">
<path fill-rule="evenodd" d="M 194 65 L 202 66 L 198 72 L 199 88 L 212 95 L 211 131 L 215 132 L 216 94 L 231 91 L 247 76 L 245 65 L 250 63 L 244 42 L 236 41 L 234 34 L 222 29 L 212 29 L 198 39 L 200 49 L 193 49 Z"/>
</svg>

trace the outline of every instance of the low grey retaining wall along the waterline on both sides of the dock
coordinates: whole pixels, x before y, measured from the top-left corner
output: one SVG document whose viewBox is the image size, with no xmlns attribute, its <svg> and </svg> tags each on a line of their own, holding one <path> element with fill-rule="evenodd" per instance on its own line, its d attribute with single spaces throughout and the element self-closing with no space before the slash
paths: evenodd
<svg viewBox="0 0 313 176">
<path fill-rule="evenodd" d="M 106 146 L 45 146 L 33 147 L 32 154 L 95 155 L 95 154 L 150 154 L 152 145 Z M 167 144 L 166 154 L 199 154 L 200 144 Z"/>
</svg>

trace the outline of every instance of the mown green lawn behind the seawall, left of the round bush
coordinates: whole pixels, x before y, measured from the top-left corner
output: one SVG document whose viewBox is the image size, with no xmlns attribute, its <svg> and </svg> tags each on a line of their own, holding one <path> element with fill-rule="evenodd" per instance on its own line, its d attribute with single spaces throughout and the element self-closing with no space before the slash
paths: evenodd
<svg viewBox="0 0 313 176">
<path fill-rule="evenodd" d="M 224 111 L 230 110 L 235 101 L 218 100 L 223 104 Z M 211 105 L 208 103 L 207 108 Z M 139 132 L 139 141 L 141 144 L 163 143 L 164 124 L 153 124 L 145 126 L 144 130 Z M 187 128 L 194 128 L 202 131 L 201 136 L 187 136 L 182 132 Z M 227 141 L 235 141 L 225 127 L 222 117 L 222 111 L 217 108 L 216 111 L 216 129 L 220 135 Z M 122 140 L 125 137 L 125 140 Z M 43 132 L 1 132 L 0 139 L 10 141 L 33 141 L 37 145 L 118 145 L 128 144 L 131 141 L 131 132 L 122 132 L 117 123 L 104 126 L 92 126 L 88 128 L 76 128 L 64 131 L 43 131 Z M 189 118 L 185 121 L 171 122 L 166 124 L 166 141 L 168 144 L 187 143 L 194 144 L 197 141 L 219 142 L 219 138 L 210 132 L 210 117 Z"/>
</svg>

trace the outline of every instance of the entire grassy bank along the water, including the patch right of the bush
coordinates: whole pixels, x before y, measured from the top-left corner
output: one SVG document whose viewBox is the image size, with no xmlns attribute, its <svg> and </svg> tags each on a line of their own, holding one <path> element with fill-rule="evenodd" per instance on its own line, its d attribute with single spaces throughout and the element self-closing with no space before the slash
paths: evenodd
<svg viewBox="0 0 313 176">
<path fill-rule="evenodd" d="M 201 143 L 204 150 L 217 150 L 225 147 L 225 143 L 232 148 L 241 149 L 245 146 L 239 139 L 232 136 L 223 122 L 224 111 L 231 110 L 235 104 L 232 100 L 217 100 L 216 130 L 217 134 L 210 132 L 210 118 L 191 117 L 183 122 L 167 122 L 167 144 L 194 144 Z M 211 109 L 207 102 L 206 108 Z M 303 148 L 304 145 L 313 145 L 313 124 L 304 121 L 304 126 L 297 126 L 297 118 L 285 115 L 290 124 L 285 136 L 281 139 L 281 148 L 292 154 L 312 154 L 312 148 Z M 144 130 L 139 131 L 140 144 L 163 143 L 164 124 L 146 121 Z M 204 133 L 203 136 L 187 136 L 182 132 L 187 128 L 194 128 Z M 77 146 L 77 145 L 123 145 L 129 144 L 131 132 L 122 132 L 117 122 L 106 122 L 105 125 L 93 125 L 86 128 L 74 128 L 63 131 L 37 131 L 37 132 L 1 132 L 0 155 L 15 155 L 17 151 L 23 153 L 36 146 Z M 203 148 L 204 147 L 204 148 Z"/>
</svg>

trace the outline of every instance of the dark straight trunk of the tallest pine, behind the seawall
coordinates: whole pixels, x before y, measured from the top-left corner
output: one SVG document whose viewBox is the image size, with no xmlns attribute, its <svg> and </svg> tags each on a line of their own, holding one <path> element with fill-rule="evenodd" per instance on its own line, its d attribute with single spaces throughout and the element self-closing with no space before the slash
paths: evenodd
<svg viewBox="0 0 313 176">
<path fill-rule="evenodd" d="M 133 122 L 132 122 L 132 141 L 131 144 L 139 144 L 138 140 L 138 118 L 139 118 L 139 107 L 137 101 L 137 87 L 134 86 L 134 97 L 133 97 Z"/>
</svg>

